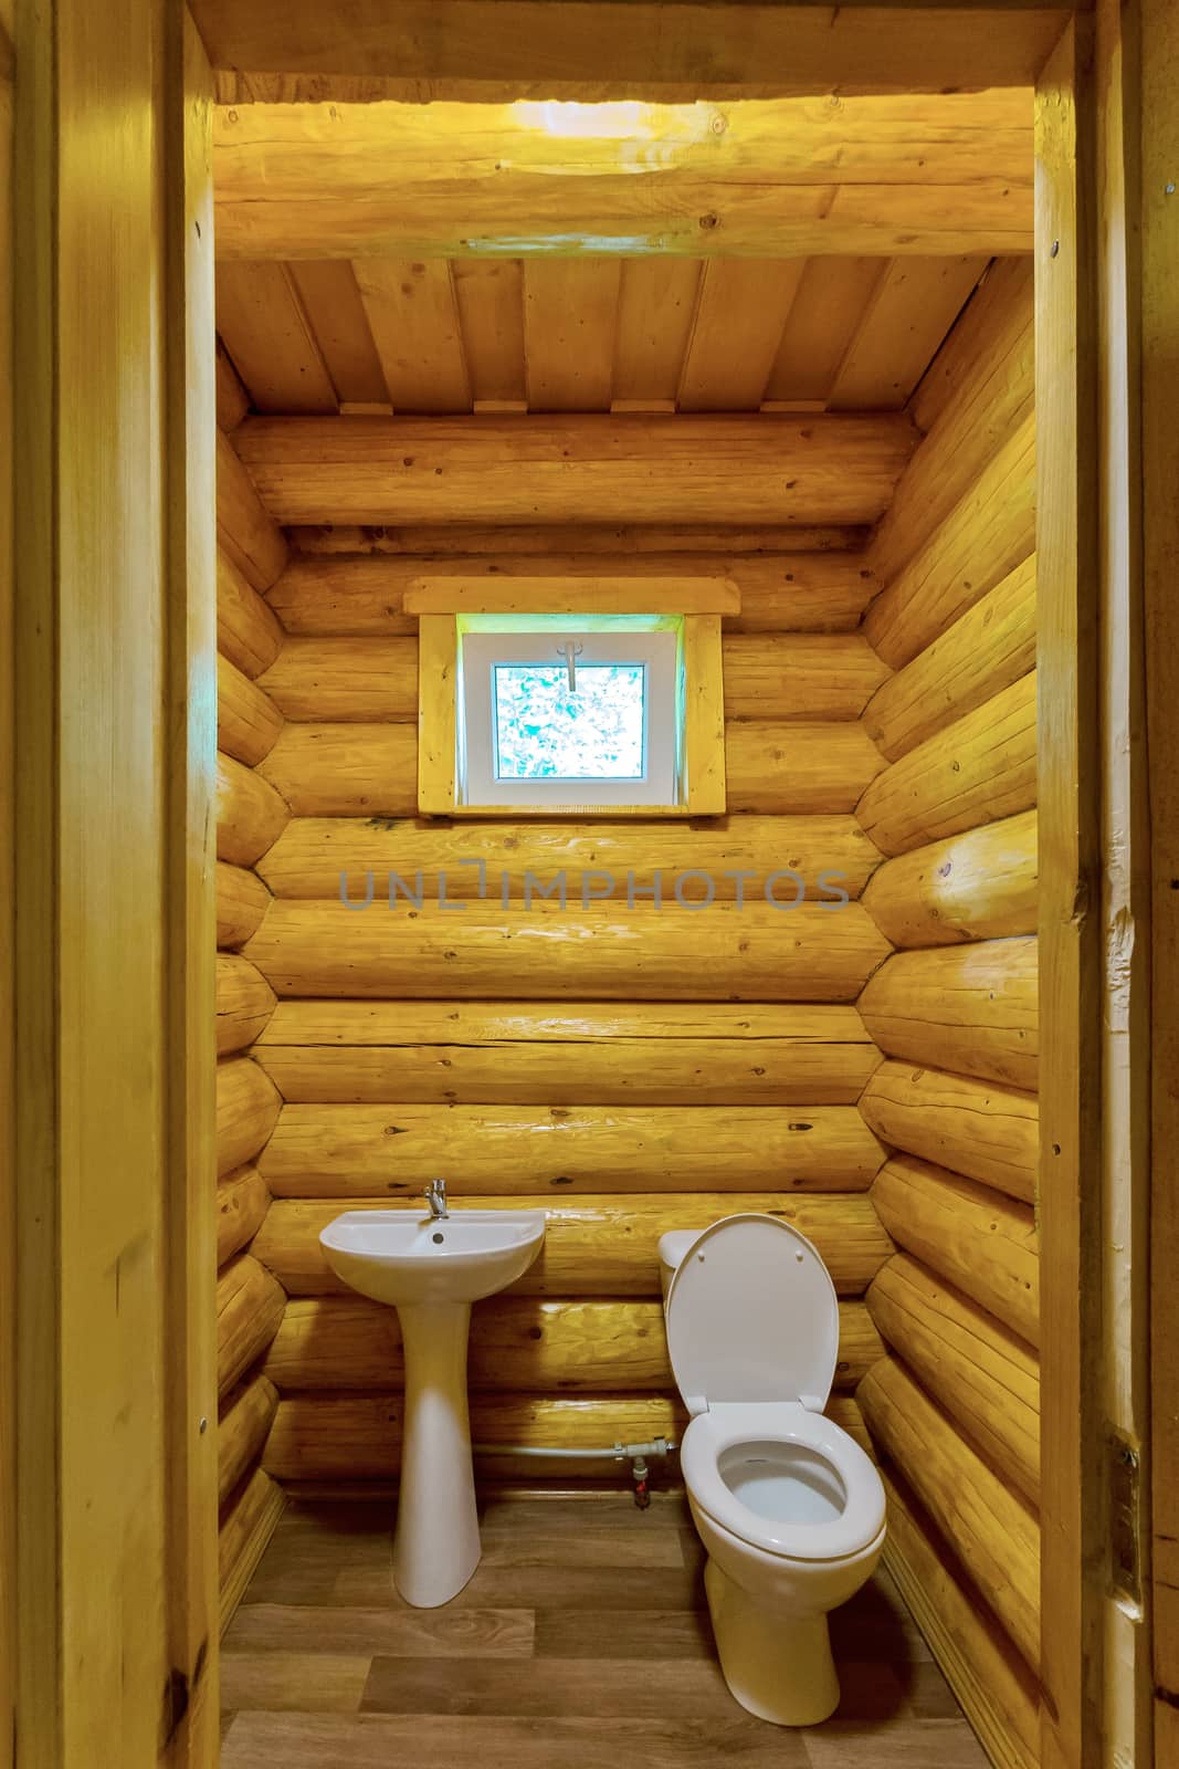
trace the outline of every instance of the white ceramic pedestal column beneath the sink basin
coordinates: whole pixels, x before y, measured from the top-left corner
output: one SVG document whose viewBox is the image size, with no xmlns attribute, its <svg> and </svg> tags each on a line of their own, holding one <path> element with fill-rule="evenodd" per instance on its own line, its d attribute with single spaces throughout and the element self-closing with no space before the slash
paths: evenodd
<svg viewBox="0 0 1179 1769">
<path fill-rule="evenodd" d="M 392 1578 L 419 1610 L 458 1596 L 479 1566 L 467 1412 L 468 1302 L 398 1306 L 405 1348 L 401 1495 Z"/>
</svg>

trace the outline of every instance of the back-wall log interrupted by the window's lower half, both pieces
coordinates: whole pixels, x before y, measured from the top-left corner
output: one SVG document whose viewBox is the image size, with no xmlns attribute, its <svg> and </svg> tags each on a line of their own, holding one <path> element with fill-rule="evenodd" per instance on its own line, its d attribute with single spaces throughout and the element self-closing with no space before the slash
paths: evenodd
<svg viewBox="0 0 1179 1769">
<path fill-rule="evenodd" d="M 730 724 L 725 732 L 734 812 L 848 812 L 882 768 L 879 748 L 852 720 L 831 725 L 757 720 Z M 297 817 L 412 817 L 417 727 L 290 724 L 258 771 Z"/>
</svg>

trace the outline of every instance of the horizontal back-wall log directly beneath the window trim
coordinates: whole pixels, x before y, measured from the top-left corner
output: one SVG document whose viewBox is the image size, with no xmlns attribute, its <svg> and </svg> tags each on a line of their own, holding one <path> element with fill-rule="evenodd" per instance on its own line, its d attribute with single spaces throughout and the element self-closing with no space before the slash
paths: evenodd
<svg viewBox="0 0 1179 1769">
<path fill-rule="evenodd" d="M 483 862 L 483 870 L 472 865 Z M 679 874 L 702 870 L 721 900 L 751 900 L 764 881 L 783 867 L 797 872 L 810 900 L 833 900 L 843 890 L 859 897 L 880 854 L 850 816 L 838 817 L 709 817 L 698 824 L 643 823 L 536 823 L 520 828 L 502 821 L 385 821 L 371 817 L 295 817 L 258 863 L 258 874 L 276 897 L 338 897 L 341 876 L 348 893 L 389 895 L 396 872 L 414 890 L 417 874 L 426 895 L 438 893 L 445 874 L 447 900 L 490 897 L 536 900 L 537 881 L 566 874 L 580 890 L 583 872 L 610 872 L 626 895 L 628 876 L 649 886 L 656 872 L 668 899 Z M 744 874 L 744 877 L 737 877 Z M 820 876 L 824 883 L 820 884 Z M 838 877 L 834 877 L 838 876 Z"/>
</svg>

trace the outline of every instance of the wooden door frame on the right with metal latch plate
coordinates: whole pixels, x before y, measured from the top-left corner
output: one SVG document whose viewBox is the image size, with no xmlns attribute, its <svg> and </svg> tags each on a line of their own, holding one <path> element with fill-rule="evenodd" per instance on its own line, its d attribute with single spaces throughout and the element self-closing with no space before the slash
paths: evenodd
<svg viewBox="0 0 1179 1769">
<path fill-rule="evenodd" d="M 1038 88 L 1043 1769 L 1147 1769 L 1167 1688 L 1151 1512 L 1179 1431 L 1158 1380 L 1151 1406 L 1151 1353 L 1163 1369 L 1163 1323 L 1179 1334 L 1177 71 L 1170 0 L 1098 0 Z M 1172 1500 L 1156 1537 L 1177 1534 Z"/>
</svg>

